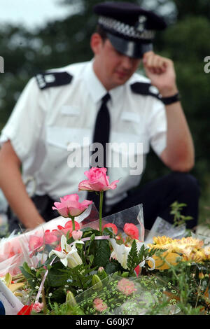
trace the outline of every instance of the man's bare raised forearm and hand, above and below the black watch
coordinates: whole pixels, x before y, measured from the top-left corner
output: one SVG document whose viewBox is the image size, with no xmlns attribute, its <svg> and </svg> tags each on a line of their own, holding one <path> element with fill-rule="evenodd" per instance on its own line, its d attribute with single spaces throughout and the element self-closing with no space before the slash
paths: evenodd
<svg viewBox="0 0 210 329">
<path fill-rule="evenodd" d="M 171 59 L 146 52 L 143 57 L 146 75 L 151 84 L 158 88 L 162 97 L 170 97 L 178 92 L 176 73 Z M 180 102 L 165 106 L 167 116 L 167 147 L 160 158 L 170 169 L 188 172 L 194 165 L 194 146 L 188 123 Z"/>
</svg>

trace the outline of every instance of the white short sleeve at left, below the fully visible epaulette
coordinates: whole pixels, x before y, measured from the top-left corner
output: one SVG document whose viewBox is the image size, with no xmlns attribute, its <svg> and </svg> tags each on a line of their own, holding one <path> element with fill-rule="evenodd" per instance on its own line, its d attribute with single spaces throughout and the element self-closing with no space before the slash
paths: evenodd
<svg viewBox="0 0 210 329">
<path fill-rule="evenodd" d="M 3 128 L 0 143 L 10 140 L 15 153 L 24 161 L 36 148 L 43 124 L 45 97 L 31 78 Z"/>
</svg>

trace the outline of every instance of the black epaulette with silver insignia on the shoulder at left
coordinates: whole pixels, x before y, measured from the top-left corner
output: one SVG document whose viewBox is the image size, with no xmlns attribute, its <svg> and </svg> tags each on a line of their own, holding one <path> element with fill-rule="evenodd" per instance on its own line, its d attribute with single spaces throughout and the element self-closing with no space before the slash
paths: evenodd
<svg viewBox="0 0 210 329">
<path fill-rule="evenodd" d="M 59 85 L 68 85 L 73 76 L 67 72 L 42 72 L 36 74 L 38 87 L 43 90 L 48 87 L 58 87 Z"/>
</svg>

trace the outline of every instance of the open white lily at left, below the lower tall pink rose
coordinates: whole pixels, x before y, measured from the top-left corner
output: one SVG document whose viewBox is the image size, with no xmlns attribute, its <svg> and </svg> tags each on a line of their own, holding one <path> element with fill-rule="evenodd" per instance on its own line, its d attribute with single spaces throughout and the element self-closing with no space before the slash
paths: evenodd
<svg viewBox="0 0 210 329">
<path fill-rule="evenodd" d="M 83 243 L 83 241 L 77 241 L 77 243 Z M 61 249 L 62 251 L 52 250 L 49 253 L 49 257 L 55 254 L 60 258 L 60 261 L 64 264 L 64 266 L 68 266 L 70 268 L 76 267 L 77 265 L 83 264 L 80 256 L 78 255 L 78 250 L 76 248 L 75 243 L 71 247 L 67 244 L 67 240 L 65 235 L 61 237 Z"/>
</svg>

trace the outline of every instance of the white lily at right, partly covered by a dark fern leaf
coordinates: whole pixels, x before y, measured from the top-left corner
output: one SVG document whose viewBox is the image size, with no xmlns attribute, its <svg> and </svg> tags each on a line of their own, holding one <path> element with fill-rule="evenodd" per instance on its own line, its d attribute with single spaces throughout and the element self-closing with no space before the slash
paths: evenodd
<svg viewBox="0 0 210 329">
<path fill-rule="evenodd" d="M 120 262 L 120 264 L 122 265 L 122 267 L 124 269 L 127 269 L 127 256 L 130 253 L 131 247 L 127 247 L 125 246 L 125 244 L 117 244 L 116 239 L 109 239 L 109 241 L 111 242 L 111 245 L 113 247 L 113 253 L 111 254 L 112 258 L 115 258 L 118 260 L 118 262 Z M 141 249 L 141 246 L 143 246 L 143 242 L 139 242 L 137 241 L 137 251 L 139 252 L 139 250 Z M 146 244 L 144 244 L 144 246 L 146 248 L 148 248 L 148 246 L 146 246 Z M 153 267 L 150 270 L 155 269 L 155 260 L 151 257 L 149 257 L 147 260 L 151 260 L 151 262 L 153 262 Z M 143 260 L 143 262 L 140 262 L 139 266 L 143 267 L 145 265 L 145 260 Z"/>
</svg>

